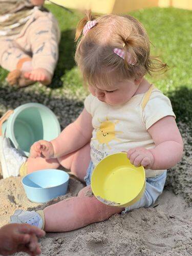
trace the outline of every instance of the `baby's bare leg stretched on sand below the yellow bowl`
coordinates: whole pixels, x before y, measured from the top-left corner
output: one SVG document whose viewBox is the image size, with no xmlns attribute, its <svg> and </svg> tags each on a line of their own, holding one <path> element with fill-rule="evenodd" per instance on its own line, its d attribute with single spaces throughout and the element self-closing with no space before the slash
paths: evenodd
<svg viewBox="0 0 192 256">
<path fill-rule="evenodd" d="M 63 200 L 44 209 L 45 231 L 66 232 L 104 221 L 124 208 L 108 206 L 88 193 L 90 186 L 83 188 L 77 197 Z"/>
</svg>

